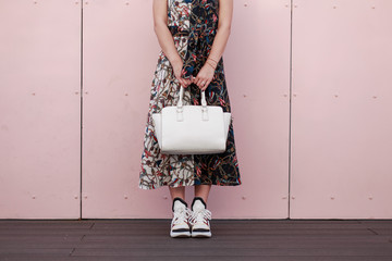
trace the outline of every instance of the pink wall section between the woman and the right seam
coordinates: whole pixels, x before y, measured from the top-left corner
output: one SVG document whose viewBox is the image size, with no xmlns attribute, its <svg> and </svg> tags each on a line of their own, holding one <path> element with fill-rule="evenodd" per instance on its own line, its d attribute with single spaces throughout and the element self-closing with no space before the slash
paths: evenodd
<svg viewBox="0 0 392 261">
<path fill-rule="evenodd" d="M 224 52 L 243 184 L 213 188 L 217 217 L 289 216 L 290 1 L 235 0 Z"/>
</svg>

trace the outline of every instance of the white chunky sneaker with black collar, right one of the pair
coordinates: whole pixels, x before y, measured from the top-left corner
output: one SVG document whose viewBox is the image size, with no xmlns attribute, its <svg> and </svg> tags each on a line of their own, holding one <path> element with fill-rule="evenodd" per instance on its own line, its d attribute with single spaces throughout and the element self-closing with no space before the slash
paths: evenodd
<svg viewBox="0 0 392 261">
<path fill-rule="evenodd" d="M 206 203 L 200 197 L 195 197 L 192 202 L 192 237 L 211 237 L 211 211 L 206 209 Z"/>
</svg>

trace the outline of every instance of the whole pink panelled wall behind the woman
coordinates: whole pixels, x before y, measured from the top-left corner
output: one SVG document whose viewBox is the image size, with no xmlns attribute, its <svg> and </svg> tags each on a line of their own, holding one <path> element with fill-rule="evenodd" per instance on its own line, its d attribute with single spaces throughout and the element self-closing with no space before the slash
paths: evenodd
<svg viewBox="0 0 392 261">
<path fill-rule="evenodd" d="M 391 217 L 392 2 L 293 2 L 234 1 L 243 185 L 212 187 L 212 216 Z M 0 1 L 1 219 L 171 217 L 168 188 L 137 187 L 151 3 L 84 1 L 82 63 L 79 0 Z"/>
</svg>

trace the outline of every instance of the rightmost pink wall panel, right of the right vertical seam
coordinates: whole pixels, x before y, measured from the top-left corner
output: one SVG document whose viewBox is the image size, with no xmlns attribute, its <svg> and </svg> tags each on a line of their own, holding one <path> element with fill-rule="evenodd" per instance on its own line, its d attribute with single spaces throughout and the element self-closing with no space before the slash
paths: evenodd
<svg viewBox="0 0 392 261">
<path fill-rule="evenodd" d="M 291 217 L 392 216 L 391 12 L 294 1 Z"/>
</svg>

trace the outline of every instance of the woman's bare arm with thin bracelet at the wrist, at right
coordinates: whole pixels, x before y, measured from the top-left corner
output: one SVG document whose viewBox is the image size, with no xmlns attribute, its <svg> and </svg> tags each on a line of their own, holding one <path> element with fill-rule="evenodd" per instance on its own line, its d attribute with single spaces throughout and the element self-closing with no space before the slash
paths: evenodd
<svg viewBox="0 0 392 261">
<path fill-rule="evenodd" d="M 193 83 L 195 83 L 201 90 L 205 90 L 213 78 L 217 62 L 219 62 L 224 52 L 231 33 L 232 17 L 233 0 L 219 0 L 219 21 L 217 35 L 213 39 L 211 51 L 206 63 L 197 76 L 193 78 Z M 201 83 L 205 83 L 205 85 L 201 85 Z"/>
</svg>

